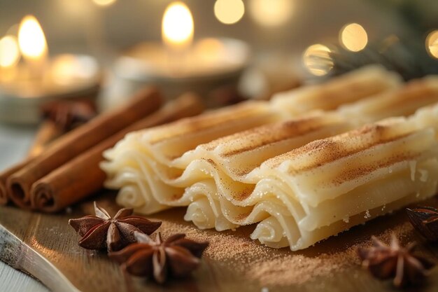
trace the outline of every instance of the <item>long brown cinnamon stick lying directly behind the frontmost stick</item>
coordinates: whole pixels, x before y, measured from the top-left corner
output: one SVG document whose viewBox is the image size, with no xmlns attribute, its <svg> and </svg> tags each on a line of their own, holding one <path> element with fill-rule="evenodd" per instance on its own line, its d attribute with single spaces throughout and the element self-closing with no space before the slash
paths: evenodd
<svg viewBox="0 0 438 292">
<path fill-rule="evenodd" d="M 17 206 L 29 209 L 31 207 L 30 189 L 35 181 L 100 141 L 156 111 L 161 106 L 162 100 L 162 95 L 156 88 L 146 88 L 120 108 L 103 113 L 90 120 L 89 123 L 65 134 L 41 155 L 9 176 L 8 196 Z"/>
</svg>

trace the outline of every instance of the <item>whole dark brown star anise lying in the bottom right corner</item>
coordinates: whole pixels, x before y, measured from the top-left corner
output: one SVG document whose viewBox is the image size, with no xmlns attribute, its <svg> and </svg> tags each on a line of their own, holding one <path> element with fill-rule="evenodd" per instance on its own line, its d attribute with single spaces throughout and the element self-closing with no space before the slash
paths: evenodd
<svg viewBox="0 0 438 292">
<path fill-rule="evenodd" d="M 434 263 L 411 252 L 415 244 L 407 247 L 400 246 L 400 242 L 393 234 L 390 245 L 386 245 L 376 237 L 372 237 L 374 246 L 369 249 L 358 249 L 362 266 L 366 267 L 378 279 L 393 278 L 396 287 L 408 284 L 420 284 L 428 275 L 428 270 Z"/>
</svg>

